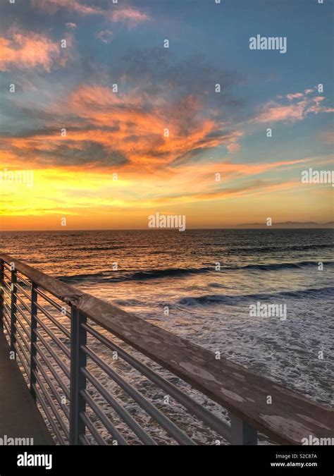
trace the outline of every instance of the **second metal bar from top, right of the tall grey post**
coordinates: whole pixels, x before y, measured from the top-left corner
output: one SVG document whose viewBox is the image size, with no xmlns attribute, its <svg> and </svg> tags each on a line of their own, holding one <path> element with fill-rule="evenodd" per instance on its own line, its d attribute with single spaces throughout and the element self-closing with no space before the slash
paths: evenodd
<svg viewBox="0 0 334 476">
<path fill-rule="evenodd" d="M 179 427 L 175 425 L 174 422 L 172 422 L 166 415 L 163 415 L 163 413 L 156 408 L 150 401 L 147 400 L 139 391 L 137 391 L 132 385 L 128 384 L 128 382 L 125 382 L 120 375 L 112 370 L 108 365 L 106 365 L 103 360 L 99 358 L 99 356 L 94 353 L 93 350 L 89 349 L 87 346 L 82 346 L 82 350 L 95 362 L 99 367 L 106 372 L 108 377 L 113 379 L 116 384 L 120 386 L 121 389 L 123 389 L 128 395 L 130 395 L 131 398 L 135 402 L 138 403 L 147 413 L 150 415 L 156 422 L 163 427 L 163 429 L 166 430 L 168 434 L 170 434 L 175 441 L 177 441 L 180 444 L 187 444 L 187 445 L 192 445 L 194 444 L 194 441 L 190 439 L 190 437 L 185 434 Z"/>
</svg>

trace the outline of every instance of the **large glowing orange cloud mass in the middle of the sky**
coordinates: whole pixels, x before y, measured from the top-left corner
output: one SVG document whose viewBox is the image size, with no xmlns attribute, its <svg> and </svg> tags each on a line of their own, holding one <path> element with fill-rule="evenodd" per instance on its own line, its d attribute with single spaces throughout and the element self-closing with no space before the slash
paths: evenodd
<svg viewBox="0 0 334 476">
<path fill-rule="evenodd" d="M 4 143 L 25 154 L 25 161 L 33 159 L 39 164 L 51 157 L 54 164 L 60 164 L 58 157 L 66 156 L 62 163 L 78 165 L 87 149 L 85 164 L 107 168 L 123 161 L 129 170 L 140 164 L 142 172 L 151 173 L 175 160 L 187 161 L 194 152 L 208 147 L 237 148 L 242 133 L 222 130 L 221 123 L 208 114 L 203 116 L 202 109 L 192 95 L 170 103 L 137 90 L 120 94 L 109 87 L 82 85 L 44 111 L 55 117 L 55 123 L 45 125 L 46 133 L 4 138 Z M 66 115 L 75 119 L 63 138 L 63 125 L 55 124 Z"/>
</svg>

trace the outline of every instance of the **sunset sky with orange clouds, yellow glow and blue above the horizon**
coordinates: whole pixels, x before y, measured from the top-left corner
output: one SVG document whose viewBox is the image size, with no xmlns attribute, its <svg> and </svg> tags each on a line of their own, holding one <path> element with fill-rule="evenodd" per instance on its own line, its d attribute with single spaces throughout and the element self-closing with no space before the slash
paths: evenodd
<svg viewBox="0 0 334 476">
<path fill-rule="evenodd" d="M 0 0 L 2 230 L 333 221 L 333 1 L 216 1 Z"/>
</svg>

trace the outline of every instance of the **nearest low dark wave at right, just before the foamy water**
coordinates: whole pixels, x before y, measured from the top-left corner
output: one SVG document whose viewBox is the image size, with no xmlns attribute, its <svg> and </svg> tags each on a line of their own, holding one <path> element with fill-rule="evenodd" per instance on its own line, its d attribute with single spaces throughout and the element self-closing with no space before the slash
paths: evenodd
<svg viewBox="0 0 334 476">
<path fill-rule="evenodd" d="M 242 305 L 254 300 L 276 300 L 278 298 L 312 298 L 312 297 L 332 297 L 333 287 L 328 288 L 310 288 L 300 291 L 282 291 L 280 293 L 258 293 L 244 295 L 225 295 L 212 294 L 197 297 L 181 298 L 178 300 L 180 305 L 209 305 L 209 304 L 225 304 L 225 305 Z"/>
</svg>

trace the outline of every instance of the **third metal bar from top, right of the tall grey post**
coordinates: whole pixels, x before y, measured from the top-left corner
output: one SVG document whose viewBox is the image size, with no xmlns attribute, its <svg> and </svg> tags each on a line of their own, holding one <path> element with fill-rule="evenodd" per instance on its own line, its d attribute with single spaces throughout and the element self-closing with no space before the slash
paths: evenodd
<svg viewBox="0 0 334 476">
<path fill-rule="evenodd" d="M 101 396 L 111 405 L 111 407 L 118 413 L 118 415 L 123 419 L 128 427 L 132 429 L 137 437 L 144 443 L 149 445 L 156 445 L 154 439 L 152 439 L 147 432 L 136 422 L 136 420 L 128 413 L 125 408 L 118 403 L 116 398 L 113 398 L 111 394 L 104 389 L 104 386 L 94 377 L 93 374 L 89 372 L 87 369 L 81 369 L 81 372 L 85 375 L 85 377 L 89 380 L 89 382 L 94 385 L 94 387 L 101 393 Z"/>
</svg>

